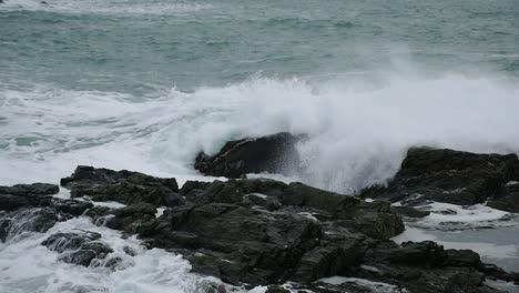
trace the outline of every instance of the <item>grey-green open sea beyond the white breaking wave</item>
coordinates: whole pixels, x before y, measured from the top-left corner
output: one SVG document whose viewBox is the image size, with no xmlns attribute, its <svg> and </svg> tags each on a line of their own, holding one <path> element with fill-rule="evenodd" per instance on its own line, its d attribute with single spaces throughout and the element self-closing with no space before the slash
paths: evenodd
<svg viewBox="0 0 519 293">
<path fill-rule="evenodd" d="M 519 75 L 517 0 L 18 1 L 0 4 L 1 87 L 140 94 L 403 62 Z"/>
</svg>

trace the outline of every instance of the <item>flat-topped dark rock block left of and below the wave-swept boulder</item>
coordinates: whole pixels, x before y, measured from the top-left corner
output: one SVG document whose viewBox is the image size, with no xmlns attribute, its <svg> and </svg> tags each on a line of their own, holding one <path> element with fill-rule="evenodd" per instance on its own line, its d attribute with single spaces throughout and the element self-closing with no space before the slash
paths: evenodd
<svg viewBox="0 0 519 293">
<path fill-rule="evenodd" d="M 174 178 L 162 179 L 131 171 L 112 171 L 93 166 L 78 166 L 61 180 L 72 198 L 89 196 L 94 201 L 116 201 L 124 204 L 147 202 L 166 205 L 179 192 Z"/>
</svg>

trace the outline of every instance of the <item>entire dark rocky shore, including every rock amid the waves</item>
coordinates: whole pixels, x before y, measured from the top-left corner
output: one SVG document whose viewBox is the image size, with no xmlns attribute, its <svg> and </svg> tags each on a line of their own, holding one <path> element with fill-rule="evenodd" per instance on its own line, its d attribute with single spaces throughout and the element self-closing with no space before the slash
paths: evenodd
<svg viewBox="0 0 519 293">
<path fill-rule="evenodd" d="M 428 201 L 487 202 L 519 211 L 517 155 L 414 148 L 387 185 L 368 188 L 359 196 L 303 183 L 236 179 L 276 172 L 282 161 L 296 164 L 301 139 L 288 133 L 245 139 L 227 143 L 214 156 L 199 155 L 196 169 L 234 178 L 228 181 L 187 181 L 179 188 L 173 178 L 78 166 L 61 180 L 71 199 L 53 196 L 60 190 L 53 184 L 0 186 L 0 240 L 86 216 L 136 235 L 149 249 L 182 254 L 195 273 L 246 289 L 264 285 L 266 292 L 289 292 L 288 286 L 312 292 L 500 292 L 485 281 L 519 284 L 519 274 L 486 264 L 470 250 L 390 240 L 405 230 L 403 216 L 427 215 L 420 206 Z M 119 270 L 112 249 L 91 231 L 54 233 L 41 245 L 63 262 Z"/>
</svg>

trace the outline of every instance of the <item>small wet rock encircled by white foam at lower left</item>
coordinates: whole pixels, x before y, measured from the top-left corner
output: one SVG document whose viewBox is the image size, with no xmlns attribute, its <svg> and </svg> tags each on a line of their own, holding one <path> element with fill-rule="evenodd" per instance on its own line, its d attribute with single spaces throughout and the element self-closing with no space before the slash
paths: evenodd
<svg viewBox="0 0 519 293">
<path fill-rule="evenodd" d="M 43 241 L 41 245 L 60 253 L 60 261 L 89 266 L 93 260 L 104 259 L 113 252 L 100 239 L 101 234 L 90 231 L 55 233 Z"/>
</svg>

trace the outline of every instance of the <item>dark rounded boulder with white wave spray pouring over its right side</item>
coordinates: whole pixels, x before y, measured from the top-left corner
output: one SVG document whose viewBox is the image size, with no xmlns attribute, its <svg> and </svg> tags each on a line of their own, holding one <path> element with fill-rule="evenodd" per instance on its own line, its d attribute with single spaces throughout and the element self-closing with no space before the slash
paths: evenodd
<svg viewBox="0 0 519 293">
<path fill-rule="evenodd" d="M 296 143 L 302 137 L 282 132 L 228 141 L 215 155 L 200 153 L 194 168 L 206 175 L 241 178 L 247 173 L 289 174 L 299 166 Z"/>
</svg>

